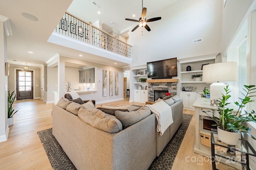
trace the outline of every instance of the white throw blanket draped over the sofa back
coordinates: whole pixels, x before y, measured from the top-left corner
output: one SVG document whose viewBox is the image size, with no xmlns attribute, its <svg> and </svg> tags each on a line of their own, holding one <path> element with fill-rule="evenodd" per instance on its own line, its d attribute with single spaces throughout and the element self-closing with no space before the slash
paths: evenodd
<svg viewBox="0 0 256 170">
<path fill-rule="evenodd" d="M 163 135 L 164 131 L 173 123 L 171 107 L 164 101 L 152 105 L 147 104 L 146 106 L 150 108 L 152 113 L 156 114 L 158 121 L 156 131 L 160 132 L 160 135 Z"/>
</svg>

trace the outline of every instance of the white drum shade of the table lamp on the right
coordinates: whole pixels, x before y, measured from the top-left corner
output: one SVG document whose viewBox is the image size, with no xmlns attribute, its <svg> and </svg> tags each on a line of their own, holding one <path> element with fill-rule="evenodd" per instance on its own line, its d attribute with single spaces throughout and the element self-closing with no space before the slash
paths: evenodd
<svg viewBox="0 0 256 170">
<path fill-rule="evenodd" d="M 203 66 L 203 82 L 238 81 L 236 62 L 214 63 Z"/>
</svg>

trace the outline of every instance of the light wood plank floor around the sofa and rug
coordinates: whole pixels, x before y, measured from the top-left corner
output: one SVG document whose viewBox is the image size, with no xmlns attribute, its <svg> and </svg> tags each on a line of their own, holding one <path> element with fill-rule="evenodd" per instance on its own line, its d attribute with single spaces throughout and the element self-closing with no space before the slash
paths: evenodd
<svg viewBox="0 0 256 170">
<path fill-rule="evenodd" d="M 129 102 L 129 98 L 109 105 L 143 103 Z M 100 104 L 96 105 L 99 107 Z M 15 101 L 14 125 L 10 127 L 8 140 L 0 143 L 0 170 L 52 170 L 52 166 L 37 135 L 38 131 L 52 127 L 52 104 L 42 100 Z M 186 131 L 172 170 L 211 170 L 210 159 L 193 152 L 195 138 L 194 111 L 184 109 L 183 113 L 192 114 L 192 120 Z M 204 160 L 203 162 L 200 161 Z M 196 161 L 199 160 L 199 161 Z M 219 164 L 220 169 L 232 170 L 229 166 Z"/>
</svg>

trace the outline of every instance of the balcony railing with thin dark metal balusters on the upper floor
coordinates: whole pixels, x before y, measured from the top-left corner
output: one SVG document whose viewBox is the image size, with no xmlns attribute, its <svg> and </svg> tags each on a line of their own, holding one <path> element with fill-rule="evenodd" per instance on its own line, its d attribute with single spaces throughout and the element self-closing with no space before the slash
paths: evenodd
<svg viewBox="0 0 256 170">
<path fill-rule="evenodd" d="M 117 39 L 116 36 L 113 37 L 97 27 L 94 27 L 92 23 L 86 23 L 72 16 L 68 12 L 64 14 L 54 31 L 84 43 L 131 58 L 131 45 Z"/>
</svg>

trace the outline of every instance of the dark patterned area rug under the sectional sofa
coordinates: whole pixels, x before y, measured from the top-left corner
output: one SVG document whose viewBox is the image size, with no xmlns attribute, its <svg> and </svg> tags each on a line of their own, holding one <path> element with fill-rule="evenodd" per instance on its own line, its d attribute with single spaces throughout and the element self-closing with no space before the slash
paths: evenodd
<svg viewBox="0 0 256 170">
<path fill-rule="evenodd" d="M 162 153 L 156 158 L 149 170 L 170 170 L 184 138 L 192 115 L 183 113 L 183 121 L 172 140 L 166 145 Z M 38 136 L 54 170 L 76 170 L 66 153 L 62 150 L 58 141 L 52 135 L 52 128 L 39 131 Z"/>
</svg>

